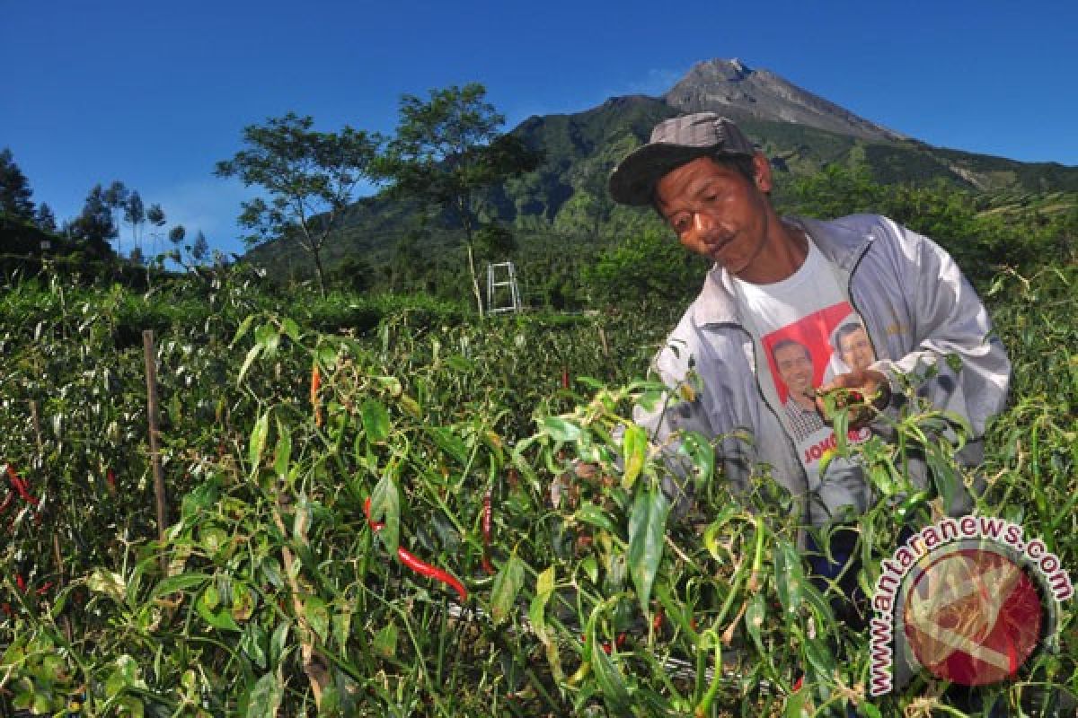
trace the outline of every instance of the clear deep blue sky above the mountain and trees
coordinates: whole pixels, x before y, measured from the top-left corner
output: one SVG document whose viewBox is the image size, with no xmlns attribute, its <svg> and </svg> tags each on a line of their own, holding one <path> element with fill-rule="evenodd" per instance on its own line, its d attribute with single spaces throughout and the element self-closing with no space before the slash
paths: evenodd
<svg viewBox="0 0 1078 718">
<path fill-rule="evenodd" d="M 119 179 L 240 251 L 252 193 L 212 168 L 246 125 L 388 133 L 402 94 L 476 81 L 508 129 L 737 57 L 931 144 L 1078 165 L 1076 27 L 1070 0 L 0 0 L 0 147 L 60 220 Z"/>
</svg>

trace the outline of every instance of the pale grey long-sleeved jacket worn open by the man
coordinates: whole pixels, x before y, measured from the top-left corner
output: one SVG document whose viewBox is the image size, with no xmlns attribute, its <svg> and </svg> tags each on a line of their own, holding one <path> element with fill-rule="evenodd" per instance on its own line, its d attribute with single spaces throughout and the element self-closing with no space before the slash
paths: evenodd
<svg viewBox="0 0 1078 718">
<path fill-rule="evenodd" d="M 849 304 L 863 318 L 877 357 L 871 368 L 887 375 L 898 395 L 898 374 L 920 375 L 935 365 L 938 372 L 917 393 L 969 421 L 976 440 L 959 460 L 979 463 L 985 422 L 1004 407 L 1010 363 L 991 333 L 984 306 L 951 256 L 928 238 L 880 215 L 788 221 L 803 228 L 829 259 Z M 702 391 L 691 402 L 660 403 L 650 411 L 637 407 L 636 423 L 661 441 L 678 430 L 721 437 L 717 459 L 735 491 L 750 490 L 754 476 L 757 481 L 765 476 L 758 467 L 770 465 L 771 476 L 798 497 L 796 510 L 812 524 L 826 523 L 843 507 L 863 512 L 873 496 L 856 465 L 833 461 L 810 483 L 778 419 L 782 407 L 773 382 L 757 380 L 758 362 L 765 361 L 765 354 L 754 334 L 729 276 L 714 268 L 654 361 L 671 388 L 693 366 Z M 962 360 L 957 372 L 944 360 L 949 354 Z M 925 488 L 923 466 L 911 466 L 911 475 Z M 957 513 L 968 507 L 969 496 L 963 495 L 950 510 Z"/>
</svg>

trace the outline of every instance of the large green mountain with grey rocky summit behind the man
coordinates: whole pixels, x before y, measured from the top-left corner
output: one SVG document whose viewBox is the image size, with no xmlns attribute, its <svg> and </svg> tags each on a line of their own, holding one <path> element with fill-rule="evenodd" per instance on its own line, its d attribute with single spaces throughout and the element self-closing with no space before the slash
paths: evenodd
<svg viewBox="0 0 1078 718">
<path fill-rule="evenodd" d="M 1019 196 L 1078 192 L 1078 167 L 934 147 L 859 117 L 773 72 L 737 59 L 715 59 L 695 65 L 662 97 L 614 97 L 583 112 L 525 119 L 511 131 L 541 151 L 544 160 L 534 172 L 488 193 L 481 219 L 497 219 L 517 236 L 542 241 L 568 236 L 597 240 L 638 224 L 638 211 L 616 207 L 608 198 L 610 170 L 648 140 L 659 121 L 703 110 L 738 122 L 771 158 L 779 189 L 789 178 L 831 164 L 857 163 L 882 183 L 942 180 Z M 384 262 L 405 236 L 421 239 L 431 254 L 440 248 L 452 251 L 455 233 L 437 221 L 417 227 L 416 209 L 378 197 L 357 202 L 336 241 L 327 248 L 327 264 L 355 255 Z M 279 242 L 252 250 L 248 257 L 290 271 L 308 264 L 299 250 Z"/>
</svg>

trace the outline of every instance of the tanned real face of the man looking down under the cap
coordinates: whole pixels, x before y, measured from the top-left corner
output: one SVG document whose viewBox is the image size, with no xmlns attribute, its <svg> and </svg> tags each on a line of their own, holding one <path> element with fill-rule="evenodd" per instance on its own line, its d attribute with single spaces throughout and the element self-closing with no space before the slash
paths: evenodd
<svg viewBox="0 0 1078 718">
<path fill-rule="evenodd" d="M 655 186 L 659 211 L 686 249 L 746 281 L 768 281 L 771 172 L 754 158 L 756 182 L 700 157 L 667 172 Z M 779 278 L 780 279 L 780 278 Z M 770 280 L 777 281 L 777 280 Z"/>
</svg>

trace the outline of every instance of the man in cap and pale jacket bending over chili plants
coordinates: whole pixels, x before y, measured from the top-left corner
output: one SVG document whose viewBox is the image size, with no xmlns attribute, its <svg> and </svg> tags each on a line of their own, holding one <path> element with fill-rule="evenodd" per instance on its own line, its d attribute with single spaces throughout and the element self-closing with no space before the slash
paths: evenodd
<svg viewBox="0 0 1078 718">
<path fill-rule="evenodd" d="M 638 408 L 637 422 L 660 440 L 679 430 L 717 437 L 724 478 L 737 491 L 750 490 L 755 467 L 770 464 L 771 475 L 799 499 L 806 524 L 863 512 L 873 496 L 860 468 L 834 460 L 820 476 L 827 437 L 799 435 L 783 409 L 782 374 L 768 351 L 784 337 L 800 338 L 820 357 L 813 372 L 823 381 L 830 335 L 854 314 L 875 360 L 863 366 L 854 361 L 820 392 L 856 391 L 894 411 L 902 396 L 899 376 L 907 376 L 920 395 L 969 421 L 972 436 L 958 457 L 979 462 L 984 425 L 1003 408 L 1010 365 L 951 257 L 879 215 L 779 217 L 771 188 L 768 159 L 731 121 L 710 112 L 660 123 L 651 141 L 612 172 L 616 201 L 651 206 L 681 244 L 715 263 L 655 357 L 668 386 L 693 369 L 703 391 L 691 402 Z M 823 410 L 819 399 L 817 408 Z M 867 436 L 873 418 L 862 412 L 853 428 Z M 872 430 L 886 434 L 884 422 Z M 755 440 L 735 438 L 745 432 Z M 923 463 L 910 468 L 927 487 Z M 679 498 L 683 506 L 687 498 Z M 956 492 L 950 510 L 969 505 L 969 496 Z"/>
</svg>

